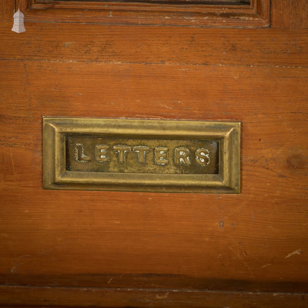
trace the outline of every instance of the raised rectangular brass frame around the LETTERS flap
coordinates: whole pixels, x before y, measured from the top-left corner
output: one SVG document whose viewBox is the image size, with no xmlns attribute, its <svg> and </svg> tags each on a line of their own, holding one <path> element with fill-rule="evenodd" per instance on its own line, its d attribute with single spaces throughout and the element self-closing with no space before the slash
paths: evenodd
<svg viewBox="0 0 308 308">
<path fill-rule="evenodd" d="M 240 193 L 240 122 L 43 117 L 46 189 Z M 218 174 L 67 171 L 65 135 L 219 141 Z"/>
</svg>

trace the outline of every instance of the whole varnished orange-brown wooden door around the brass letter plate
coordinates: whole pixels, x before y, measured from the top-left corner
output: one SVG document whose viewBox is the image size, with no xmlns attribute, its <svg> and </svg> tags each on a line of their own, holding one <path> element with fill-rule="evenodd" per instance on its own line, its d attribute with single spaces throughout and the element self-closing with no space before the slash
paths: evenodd
<svg viewBox="0 0 308 308">
<path fill-rule="evenodd" d="M 308 6 L 266 3 L 2 1 L 1 306 L 307 307 Z M 241 193 L 43 189 L 43 116 L 240 121 Z"/>
</svg>

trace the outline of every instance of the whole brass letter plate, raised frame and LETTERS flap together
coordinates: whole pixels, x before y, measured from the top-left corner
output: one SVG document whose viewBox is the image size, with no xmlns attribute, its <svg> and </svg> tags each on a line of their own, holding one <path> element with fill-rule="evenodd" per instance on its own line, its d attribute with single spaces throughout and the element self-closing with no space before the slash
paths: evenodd
<svg viewBox="0 0 308 308">
<path fill-rule="evenodd" d="M 44 188 L 240 192 L 239 122 L 43 118 Z"/>
</svg>

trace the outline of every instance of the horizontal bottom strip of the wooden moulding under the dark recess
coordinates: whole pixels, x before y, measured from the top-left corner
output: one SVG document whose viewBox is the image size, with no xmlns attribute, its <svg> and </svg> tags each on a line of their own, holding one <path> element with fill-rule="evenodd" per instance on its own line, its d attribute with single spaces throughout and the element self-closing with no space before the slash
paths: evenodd
<svg viewBox="0 0 308 308">
<path fill-rule="evenodd" d="M 128 6 L 129 5 L 129 6 Z M 99 10 L 71 8 L 49 8 L 35 4 L 26 12 L 29 22 L 73 22 L 93 24 L 121 25 L 157 25 L 188 27 L 269 27 L 269 25 L 251 8 L 229 9 L 217 12 L 213 8 L 205 12 L 199 8 L 187 7 L 180 10 L 177 6 L 164 7 L 160 10 L 145 10 L 146 4 L 128 4 L 123 9 L 116 2 Z M 150 4 L 148 4 L 150 5 Z M 205 16 L 206 14 L 206 16 Z"/>
</svg>

